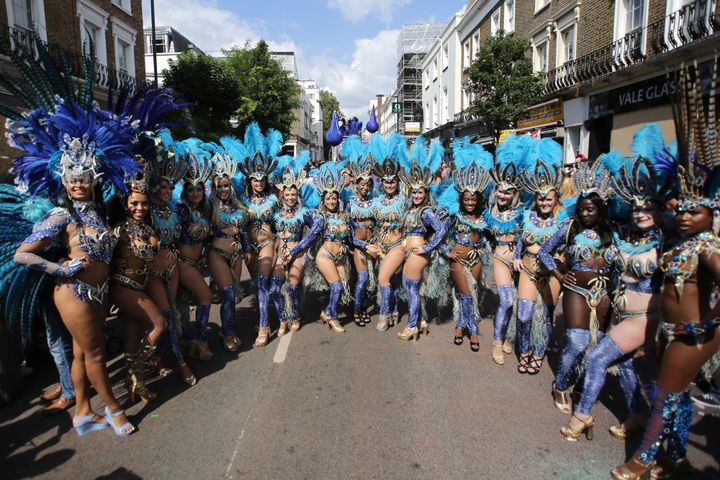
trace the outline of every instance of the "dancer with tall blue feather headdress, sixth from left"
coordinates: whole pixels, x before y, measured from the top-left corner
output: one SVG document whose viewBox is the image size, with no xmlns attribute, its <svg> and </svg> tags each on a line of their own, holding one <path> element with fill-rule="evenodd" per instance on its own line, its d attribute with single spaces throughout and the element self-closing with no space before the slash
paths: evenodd
<svg viewBox="0 0 720 480">
<path fill-rule="evenodd" d="M 270 340 L 270 274 L 275 266 L 275 232 L 273 221 L 278 198 L 271 193 L 268 177 L 277 165 L 275 156 L 282 147 L 282 134 L 268 131 L 267 137 L 252 122 L 245 130 L 248 156 L 240 161 L 239 169 L 247 178 L 247 216 L 250 238 L 250 269 L 257 286 L 260 327 L 256 347 L 264 347 Z M 277 282 L 278 280 L 274 280 Z M 276 287 L 279 288 L 279 287 Z M 281 313 L 278 312 L 278 315 Z"/>
</svg>

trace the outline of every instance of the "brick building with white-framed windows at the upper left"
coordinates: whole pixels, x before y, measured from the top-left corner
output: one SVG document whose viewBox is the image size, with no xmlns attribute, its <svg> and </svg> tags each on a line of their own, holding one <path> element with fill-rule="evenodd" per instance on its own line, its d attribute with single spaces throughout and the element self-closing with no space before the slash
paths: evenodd
<svg viewBox="0 0 720 480">
<path fill-rule="evenodd" d="M 142 0 L 6 0 L 0 7 L 0 69 L 13 72 L 9 56 L 20 49 L 32 53 L 32 30 L 63 49 L 75 76 L 83 75 L 82 52 L 88 39 L 95 45 L 95 98 L 109 86 L 137 87 L 145 78 Z M 2 101 L 15 103 L 0 92 Z M 4 122 L 3 122 L 4 125 Z M 0 171 L 13 155 L 0 142 Z"/>
</svg>

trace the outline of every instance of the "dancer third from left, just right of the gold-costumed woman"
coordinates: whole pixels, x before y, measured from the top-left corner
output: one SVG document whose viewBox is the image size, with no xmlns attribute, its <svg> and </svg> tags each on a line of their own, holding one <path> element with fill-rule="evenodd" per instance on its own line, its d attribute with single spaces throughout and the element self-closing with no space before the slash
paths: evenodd
<svg viewBox="0 0 720 480">
<path fill-rule="evenodd" d="M 197 383 L 197 379 L 180 351 L 175 317 L 175 298 L 180 284 L 177 272 L 177 242 L 180 239 L 182 227 L 177 211 L 172 204 L 173 188 L 183 177 L 187 167 L 175 158 L 171 143 L 164 145 L 165 148 L 161 150 L 161 154 L 155 157 L 155 164 L 151 165 L 153 177 L 150 181 L 152 193 L 150 214 L 159 246 L 153 259 L 151 276 L 147 280 L 145 290 L 165 318 L 167 328 L 165 337 L 175 357 L 180 378 L 192 386 Z"/>
</svg>

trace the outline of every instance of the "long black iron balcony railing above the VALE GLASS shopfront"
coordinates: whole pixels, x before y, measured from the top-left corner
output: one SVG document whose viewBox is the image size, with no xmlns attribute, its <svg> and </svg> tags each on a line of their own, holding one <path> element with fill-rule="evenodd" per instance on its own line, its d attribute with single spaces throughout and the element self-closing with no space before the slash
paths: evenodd
<svg viewBox="0 0 720 480">
<path fill-rule="evenodd" d="M 550 70 L 543 75 L 545 93 L 610 75 L 715 34 L 720 30 L 715 2 L 695 0 L 661 20 Z"/>
</svg>

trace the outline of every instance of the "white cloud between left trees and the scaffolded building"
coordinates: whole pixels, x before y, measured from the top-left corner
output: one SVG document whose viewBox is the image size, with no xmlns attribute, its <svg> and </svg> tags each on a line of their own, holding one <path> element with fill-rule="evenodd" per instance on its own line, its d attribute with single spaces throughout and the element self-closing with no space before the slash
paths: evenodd
<svg viewBox="0 0 720 480">
<path fill-rule="evenodd" d="M 367 120 L 370 100 L 378 93 L 390 94 L 395 89 L 399 34 L 399 30 L 382 30 L 374 38 L 356 40 L 349 64 L 327 55 L 315 56 L 308 73 L 321 88 L 338 97 L 346 115 Z"/>
</svg>

